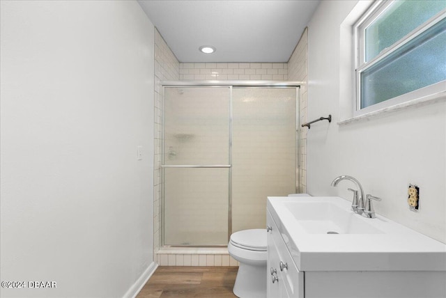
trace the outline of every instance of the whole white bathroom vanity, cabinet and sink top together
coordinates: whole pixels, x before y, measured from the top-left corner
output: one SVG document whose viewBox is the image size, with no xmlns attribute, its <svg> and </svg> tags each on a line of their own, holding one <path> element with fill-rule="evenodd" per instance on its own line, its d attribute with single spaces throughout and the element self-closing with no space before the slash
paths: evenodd
<svg viewBox="0 0 446 298">
<path fill-rule="evenodd" d="M 268 197 L 269 298 L 446 297 L 446 244 L 339 197 Z"/>
</svg>

